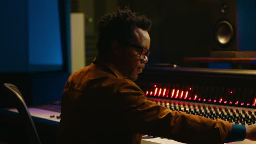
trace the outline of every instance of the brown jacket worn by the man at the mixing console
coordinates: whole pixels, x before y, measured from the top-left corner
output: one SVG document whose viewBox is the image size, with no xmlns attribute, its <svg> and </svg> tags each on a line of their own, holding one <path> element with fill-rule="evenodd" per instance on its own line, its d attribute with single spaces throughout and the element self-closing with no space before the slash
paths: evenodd
<svg viewBox="0 0 256 144">
<path fill-rule="evenodd" d="M 142 134 L 184 143 L 223 143 L 232 124 L 172 111 L 147 100 L 112 64 L 72 74 L 62 95 L 59 143 L 141 143 Z"/>
</svg>

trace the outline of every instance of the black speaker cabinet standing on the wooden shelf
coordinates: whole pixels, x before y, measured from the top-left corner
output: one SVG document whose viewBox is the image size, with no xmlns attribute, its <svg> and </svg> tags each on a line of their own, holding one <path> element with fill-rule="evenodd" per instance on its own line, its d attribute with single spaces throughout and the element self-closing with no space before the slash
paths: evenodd
<svg viewBox="0 0 256 144">
<path fill-rule="evenodd" d="M 213 1 L 213 51 L 236 51 L 237 50 L 237 17 L 236 1 L 217 0 Z"/>
</svg>

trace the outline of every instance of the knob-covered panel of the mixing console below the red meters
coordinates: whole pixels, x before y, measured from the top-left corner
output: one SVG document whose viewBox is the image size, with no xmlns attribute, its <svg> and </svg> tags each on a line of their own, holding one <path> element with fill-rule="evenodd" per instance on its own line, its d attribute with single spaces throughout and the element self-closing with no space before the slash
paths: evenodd
<svg viewBox="0 0 256 144">
<path fill-rule="evenodd" d="M 199 115 L 211 119 L 220 118 L 234 124 L 251 125 L 256 123 L 256 110 L 254 109 L 155 98 L 148 99 L 168 109 L 183 111 L 192 115 Z"/>
</svg>

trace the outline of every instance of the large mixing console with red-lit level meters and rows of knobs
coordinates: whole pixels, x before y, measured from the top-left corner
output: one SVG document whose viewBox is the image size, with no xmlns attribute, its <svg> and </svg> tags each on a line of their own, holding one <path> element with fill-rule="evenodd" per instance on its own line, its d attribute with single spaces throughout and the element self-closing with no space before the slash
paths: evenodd
<svg viewBox="0 0 256 144">
<path fill-rule="evenodd" d="M 136 83 L 148 100 L 168 109 L 251 125 L 256 122 L 255 81 L 256 70 L 147 67 Z M 144 141 L 179 143 L 161 137 Z"/>
</svg>

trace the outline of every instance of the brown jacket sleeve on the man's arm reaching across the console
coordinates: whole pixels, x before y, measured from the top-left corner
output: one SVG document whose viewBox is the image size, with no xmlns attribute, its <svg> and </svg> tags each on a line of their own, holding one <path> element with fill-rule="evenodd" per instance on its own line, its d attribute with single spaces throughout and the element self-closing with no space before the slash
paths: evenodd
<svg viewBox="0 0 256 144">
<path fill-rule="evenodd" d="M 166 137 L 184 143 L 223 143 L 232 124 L 222 119 L 212 120 L 184 112 L 172 111 L 147 100 L 132 81 L 117 85 L 116 95 L 127 129 L 138 133 Z"/>
</svg>

